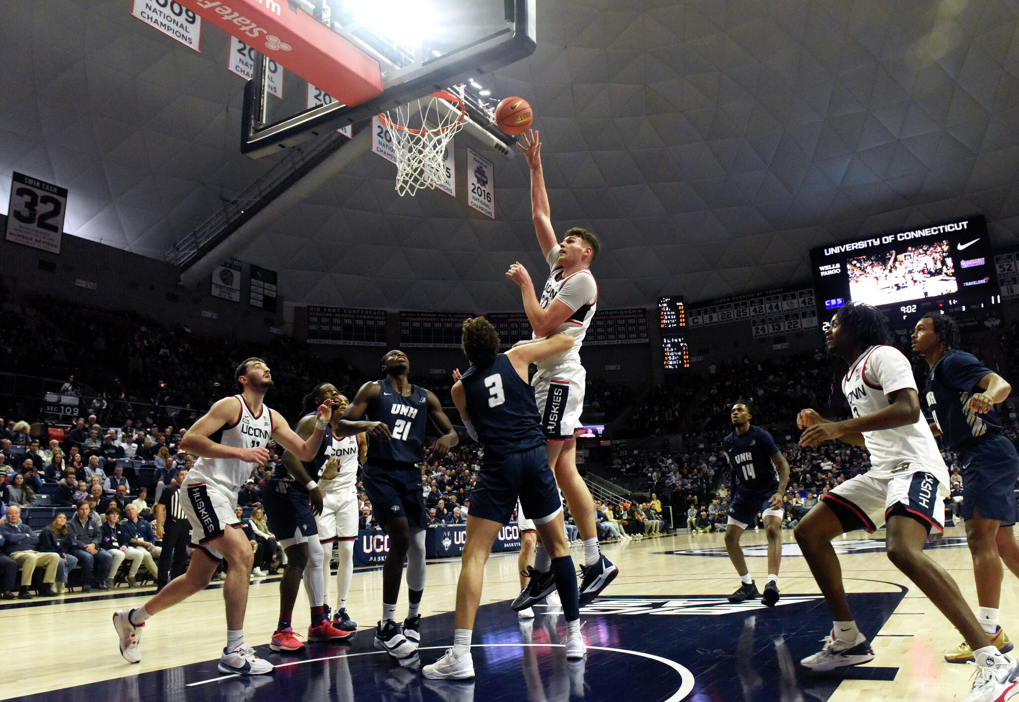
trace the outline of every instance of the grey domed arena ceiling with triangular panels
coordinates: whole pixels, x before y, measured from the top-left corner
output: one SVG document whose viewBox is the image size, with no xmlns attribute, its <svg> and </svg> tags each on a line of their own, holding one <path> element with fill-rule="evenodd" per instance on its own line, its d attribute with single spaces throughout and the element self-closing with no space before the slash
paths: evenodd
<svg viewBox="0 0 1019 702">
<path fill-rule="evenodd" d="M 271 159 L 238 152 L 226 36 L 205 28 L 198 53 L 128 11 L 0 3 L 0 207 L 10 172 L 31 173 L 70 190 L 69 233 L 162 258 Z M 814 246 L 977 212 L 995 246 L 1019 241 L 1014 0 L 538 12 L 536 53 L 480 80 L 534 105 L 556 230 L 604 243 L 604 307 L 808 282 Z M 290 303 L 517 309 L 503 271 L 544 267 L 527 165 L 489 155 L 494 221 L 463 192 L 398 198 L 366 153 L 233 255 L 279 270 Z"/>
</svg>

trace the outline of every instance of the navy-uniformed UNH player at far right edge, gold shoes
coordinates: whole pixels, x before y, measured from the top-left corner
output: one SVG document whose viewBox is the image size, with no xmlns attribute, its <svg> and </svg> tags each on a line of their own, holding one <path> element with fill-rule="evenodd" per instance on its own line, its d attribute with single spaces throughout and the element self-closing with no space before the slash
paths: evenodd
<svg viewBox="0 0 1019 702">
<path fill-rule="evenodd" d="M 962 516 L 966 541 L 973 557 L 977 620 L 1000 651 L 1012 650 L 998 625 L 1002 595 L 1002 560 L 1019 574 L 1019 544 L 1012 534 L 1016 522 L 1015 484 L 1019 456 L 1002 435 L 994 406 L 1003 402 L 1012 387 L 976 356 L 959 350 L 959 329 L 943 314 L 924 315 L 913 331 L 913 350 L 927 361 L 930 371 L 924 399 L 941 435 L 956 452 L 962 467 Z M 973 660 L 965 642 L 945 654 L 950 663 Z"/>
</svg>

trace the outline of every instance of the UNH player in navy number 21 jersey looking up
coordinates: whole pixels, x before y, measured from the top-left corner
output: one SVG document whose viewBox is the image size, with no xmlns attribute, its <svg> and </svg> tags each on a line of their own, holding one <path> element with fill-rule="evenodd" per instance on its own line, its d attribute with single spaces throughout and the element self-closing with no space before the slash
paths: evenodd
<svg viewBox="0 0 1019 702">
<path fill-rule="evenodd" d="M 336 428 L 336 436 L 367 432 L 368 461 L 362 481 L 372 503 L 372 515 L 389 537 L 382 567 L 382 618 L 375 632 L 375 648 L 393 658 L 408 658 L 421 641 L 421 594 L 425 589 L 425 530 L 428 510 L 421 492 L 425 460 L 425 429 L 432 418 L 442 436 L 428 451 L 442 458 L 460 438 L 442 405 L 431 391 L 407 379 L 411 362 L 403 351 L 382 357 L 385 378 L 361 386 Z M 362 417 L 367 416 L 367 420 Z M 403 626 L 396 624 L 396 600 L 407 558 L 410 608 Z"/>
</svg>

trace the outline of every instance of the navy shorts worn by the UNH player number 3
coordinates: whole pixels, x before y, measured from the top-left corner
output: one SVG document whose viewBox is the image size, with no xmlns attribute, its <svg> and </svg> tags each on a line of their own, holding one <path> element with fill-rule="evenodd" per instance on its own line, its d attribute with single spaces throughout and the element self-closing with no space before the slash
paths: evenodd
<svg viewBox="0 0 1019 702">
<path fill-rule="evenodd" d="M 535 524 L 551 521 L 562 510 L 544 446 L 501 455 L 485 451 L 471 493 L 471 516 L 507 523 L 518 498 Z"/>
</svg>

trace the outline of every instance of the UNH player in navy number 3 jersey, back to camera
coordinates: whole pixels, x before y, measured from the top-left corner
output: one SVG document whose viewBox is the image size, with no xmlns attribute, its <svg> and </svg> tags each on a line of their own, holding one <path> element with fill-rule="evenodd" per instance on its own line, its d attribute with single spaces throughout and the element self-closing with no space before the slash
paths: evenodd
<svg viewBox="0 0 1019 702">
<path fill-rule="evenodd" d="M 568 351 L 573 345 L 568 335 L 553 334 L 499 353 L 499 336 L 484 317 L 464 322 L 464 353 L 471 367 L 453 385 L 451 395 L 468 433 L 481 443 L 485 453 L 467 515 L 453 646 L 423 668 L 425 678 L 474 678 L 471 635 L 481 601 L 485 562 L 496 535 L 509 521 L 518 497 L 552 558 L 553 579 L 539 596 L 558 588 L 567 620 L 567 658 L 577 660 L 587 654 L 580 633 L 577 578 L 564 532 L 562 503 L 548 466 L 535 393 L 527 383 L 528 364 Z"/>
</svg>

